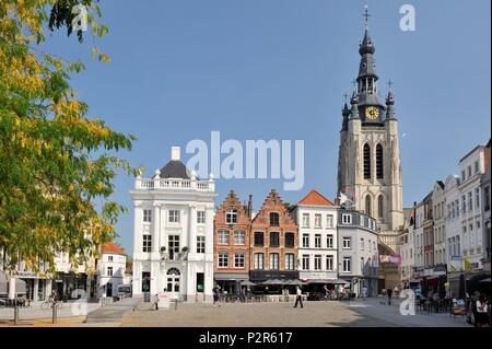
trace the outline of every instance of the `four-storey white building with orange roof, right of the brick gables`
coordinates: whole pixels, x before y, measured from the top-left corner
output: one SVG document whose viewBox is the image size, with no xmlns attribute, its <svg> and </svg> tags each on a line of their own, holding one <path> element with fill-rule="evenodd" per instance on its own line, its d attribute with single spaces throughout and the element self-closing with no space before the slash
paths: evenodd
<svg viewBox="0 0 492 349">
<path fill-rule="evenodd" d="M 337 280 L 337 208 L 312 190 L 291 211 L 298 225 L 300 279 Z"/>
</svg>

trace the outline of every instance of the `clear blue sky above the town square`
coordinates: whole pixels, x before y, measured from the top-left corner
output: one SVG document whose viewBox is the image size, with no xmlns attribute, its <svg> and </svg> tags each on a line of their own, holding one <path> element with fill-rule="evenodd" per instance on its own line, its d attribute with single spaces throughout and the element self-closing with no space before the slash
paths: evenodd
<svg viewBox="0 0 492 349">
<path fill-rule="evenodd" d="M 400 8 L 415 9 L 415 31 L 402 32 Z M 253 194 L 258 210 L 270 189 L 297 202 L 311 189 L 337 196 L 343 94 L 356 77 L 364 4 L 376 45 L 379 90 L 394 82 L 403 170 L 403 203 L 420 201 L 437 179 L 458 173 L 458 161 L 490 139 L 491 37 L 489 0 L 104 0 L 109 34 L 97 45 L 112 57 L 91 60 L 92 39 L 65 32 L 44 49 L 82 59 L 71 80 L 90 105 L 89 117 L 134 135 L 121 156 L 150 177 L 194 139 L 304 140 L 305 184 L 282 190 L 283 179 L 219 179 Z M 132 254 L 134 178 L 115 181 L 114 199 L 129 213 L 117 242 Z"/>
</svg>

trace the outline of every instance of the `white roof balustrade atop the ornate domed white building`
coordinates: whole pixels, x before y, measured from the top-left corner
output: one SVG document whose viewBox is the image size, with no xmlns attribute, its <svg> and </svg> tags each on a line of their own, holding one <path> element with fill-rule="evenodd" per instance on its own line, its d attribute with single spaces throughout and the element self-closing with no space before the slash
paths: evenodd
<svg viewBox="0 0 492 349">
<path fill-rule="evenodd" d="M 134 181 L 134 188 L 148 190 L 198 190 L 213 193 L 215 190 L 215 184 L 213 179 L 149 179 L 137 177 Z"/>
</svg>

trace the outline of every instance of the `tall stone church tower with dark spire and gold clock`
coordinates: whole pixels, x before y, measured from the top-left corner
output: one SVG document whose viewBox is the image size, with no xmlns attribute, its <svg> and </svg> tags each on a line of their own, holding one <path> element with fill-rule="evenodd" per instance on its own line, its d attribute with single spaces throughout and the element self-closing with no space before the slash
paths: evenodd
<svg viewBox="0 0 492 349">
<path fill-rule="evenodd" d="M 367 18 L 366 9 L 356 86 L 350 107 L 345 102 L 342 109 L 338 190 L 353 196 L 355 209 L 377 220 L 380 254 L 396 254 L 396 236 L 403 225 L 398 120 L 391 83 L 385 103 L 380 102 L 376 47 L 368 33 Z"/>
</svg>

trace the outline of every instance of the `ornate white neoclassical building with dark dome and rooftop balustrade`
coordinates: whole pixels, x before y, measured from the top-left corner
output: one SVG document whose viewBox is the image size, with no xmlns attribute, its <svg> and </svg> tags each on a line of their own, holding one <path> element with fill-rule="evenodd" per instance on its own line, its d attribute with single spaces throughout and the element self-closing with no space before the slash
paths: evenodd
<svg viewBox="0 0 492 349">
<path fill-rule="evenodd" d="M 171 161 L 153 178 L 137 177 L 134 205 L 133 295 L 168 291 L 173 299 L 210 301 L 213 288 L 213 176 L 201 181 Z"/>
</svg>

